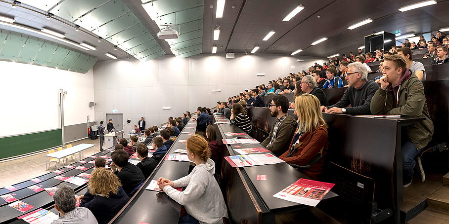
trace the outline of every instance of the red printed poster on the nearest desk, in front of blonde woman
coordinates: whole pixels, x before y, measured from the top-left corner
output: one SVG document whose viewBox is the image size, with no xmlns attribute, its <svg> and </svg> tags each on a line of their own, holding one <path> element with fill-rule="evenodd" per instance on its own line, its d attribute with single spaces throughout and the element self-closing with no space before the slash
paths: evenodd
<svg viewBox="0 0 449 224">
<path fill-rule="evenodd" d="M 274 194 L 273 197 L 309 206 L 316 206 L 334 185 L 301 178 Z"/>
</svg>

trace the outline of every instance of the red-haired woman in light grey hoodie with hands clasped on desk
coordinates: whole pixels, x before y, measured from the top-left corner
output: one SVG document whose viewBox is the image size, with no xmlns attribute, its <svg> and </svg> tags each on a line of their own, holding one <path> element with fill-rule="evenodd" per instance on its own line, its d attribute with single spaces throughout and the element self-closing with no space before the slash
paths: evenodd
<svg viewBox="0 0 449 224">
<path fill-rule="evenodd" d="M 185 143 L 188 158 L 195 162 L 192 172 L 176 181 L 159 178 L 159 188 L 185 207 L 187 215 L 179 223 L 219 224 L 227 217 L 226 205 L 217 181 L 214 178 L 215 163 L 209 158 L 206 140 L 199 135 L 190 137 Z M 186 187 L 179 191 L 173 187 Z"/>
</svg>

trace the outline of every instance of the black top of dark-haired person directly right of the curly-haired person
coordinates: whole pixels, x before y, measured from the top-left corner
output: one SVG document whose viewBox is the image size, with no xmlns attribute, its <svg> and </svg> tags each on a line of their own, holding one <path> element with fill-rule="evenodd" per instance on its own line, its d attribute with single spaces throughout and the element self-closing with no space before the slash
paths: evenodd
<svg viewBox="0 0 449 224">
<path fill-rule="evenodd" d="M 122 183 L 123 190 L 126 194 L 131 193 L 135 187 L 145 181 L 142 171 L 134 164 L 128 162 L 122 169 L 114 172 Z"/>
</svg>

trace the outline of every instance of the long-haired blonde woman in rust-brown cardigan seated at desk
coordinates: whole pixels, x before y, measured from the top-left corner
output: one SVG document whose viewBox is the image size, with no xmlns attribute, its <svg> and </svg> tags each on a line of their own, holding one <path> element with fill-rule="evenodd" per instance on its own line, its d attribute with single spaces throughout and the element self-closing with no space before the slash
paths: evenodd
<svg viewBox="0 0 449 224">
<path fill-rule="evenodd" d="M 316 163 L 302 173 L 317 179 L 327 154 L 328 133 L 326 122 L 319 109 L 319 101 L 312 94 L 303 94 L 295 99 L 295 114 L 298 115 L 298 129 L 293 138 L 292 148 L 284 152 L 280 159 L 287 163 L 305 166 L 318 154 L 322 154 Z"/>
</svg>

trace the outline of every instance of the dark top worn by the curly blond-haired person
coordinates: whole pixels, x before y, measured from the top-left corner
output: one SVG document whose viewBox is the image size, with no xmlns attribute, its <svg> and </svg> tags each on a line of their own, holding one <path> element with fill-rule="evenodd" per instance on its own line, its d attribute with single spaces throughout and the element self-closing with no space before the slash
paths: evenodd
<svg viewBox="0 0 449 224">
<path fill-rule="evenodd" d="M 109 193 L 109 197 L 92 195 L 88 189 L 81 199 L 80 206 L 88 208 L 95 216 L 98 224 L 107 224 L 129 200 L 130 198 L 122 187 L 119 187 L 116 194 Z"/>
</svg>

